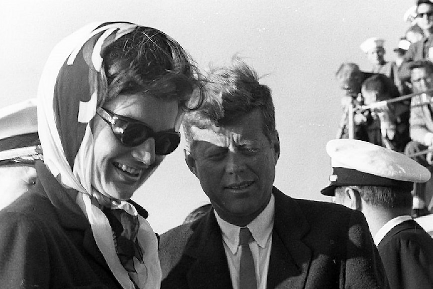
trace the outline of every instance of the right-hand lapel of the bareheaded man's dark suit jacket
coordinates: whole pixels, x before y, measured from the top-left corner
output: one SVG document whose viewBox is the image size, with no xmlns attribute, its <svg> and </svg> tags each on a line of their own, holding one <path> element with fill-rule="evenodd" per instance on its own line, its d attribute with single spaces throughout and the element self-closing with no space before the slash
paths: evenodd
<svg viewBox="0 0 433 289">
<path fill-rule="evenodd" d="M 311 250 L 301 241 L 309 226 L 295 200 L 274 187 L 275 218 L 267 288 L 303 288 Z"/>
</svg>

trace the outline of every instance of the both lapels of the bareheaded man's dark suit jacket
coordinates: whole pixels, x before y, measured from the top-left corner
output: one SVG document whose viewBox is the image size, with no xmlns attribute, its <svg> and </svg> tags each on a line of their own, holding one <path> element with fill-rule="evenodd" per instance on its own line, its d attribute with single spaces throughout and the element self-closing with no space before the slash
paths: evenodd
<svg viewBox="0 0 433 289">
<path fill-rule="evenodd" d="M 301 241 L 309 226 L 295 200 L 278 189 L 267 288 L 303 288 L 311 263 L 311 250 Z M 194 229 L 185 255 L 192 258 L 188 287 L 232 288 L 221 230 L 211 211 Z"/>
</svg>

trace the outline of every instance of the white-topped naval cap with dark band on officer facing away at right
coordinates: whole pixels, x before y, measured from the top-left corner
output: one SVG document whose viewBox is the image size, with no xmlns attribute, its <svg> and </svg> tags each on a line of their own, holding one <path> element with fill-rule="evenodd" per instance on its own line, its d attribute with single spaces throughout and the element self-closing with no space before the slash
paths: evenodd
<svg viewBox="0 0 433 289">
<path fill-rule="evenodd" d="M 335 196 L 338 186 L 374 185 L 412 189 L 414 182 L 430 179 L 428 169 L 409 157 L 354 139 L 335 139 L 327 143 L 331 157 L 331 184 L 320 192 Z"/>
</svg>

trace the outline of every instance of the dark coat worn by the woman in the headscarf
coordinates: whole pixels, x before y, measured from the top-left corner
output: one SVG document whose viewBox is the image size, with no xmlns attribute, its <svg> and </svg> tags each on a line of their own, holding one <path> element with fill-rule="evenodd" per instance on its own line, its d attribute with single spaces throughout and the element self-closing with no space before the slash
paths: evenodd
<svg viewBox="0 0 433 289">
<path fill-rule="evenodd" d="M 36 170 L 34 190 L 0 211 L 0 287 L 122 288 L 75 200 L 42 162 Z"/>
</svg>

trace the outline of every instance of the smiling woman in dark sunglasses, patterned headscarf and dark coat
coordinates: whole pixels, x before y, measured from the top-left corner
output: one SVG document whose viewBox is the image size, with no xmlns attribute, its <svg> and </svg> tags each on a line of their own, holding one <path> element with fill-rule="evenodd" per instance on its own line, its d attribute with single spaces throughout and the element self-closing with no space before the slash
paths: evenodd
<svg viewBox="0 0 433 289">
<path fill-rule="evenodd" d="M 39 180 L 0 211 L 2 287 L 159 288 L 158 241 L 130 198 L 179 144 L 196 76 L 177 42 L 131 23 L 56 46 L 38 89 Z"/>
</svg>

